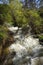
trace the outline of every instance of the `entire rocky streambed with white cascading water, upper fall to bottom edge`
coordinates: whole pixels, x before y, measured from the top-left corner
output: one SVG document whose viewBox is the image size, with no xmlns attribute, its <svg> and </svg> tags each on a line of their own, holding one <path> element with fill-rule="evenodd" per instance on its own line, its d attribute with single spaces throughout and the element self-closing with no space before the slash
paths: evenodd
<svg viewBox="0 0 43 65">
<path fill-rule="evenodd" d="M 43 65 L 43 46 L 39 44 L 39 39 L 33 38 L 30 31 L 24 35 L 18 27 L 8 29 L 14 33 L 15 41 L 8 47 L 9 54 L 3 65 Z"/>
</svg>

